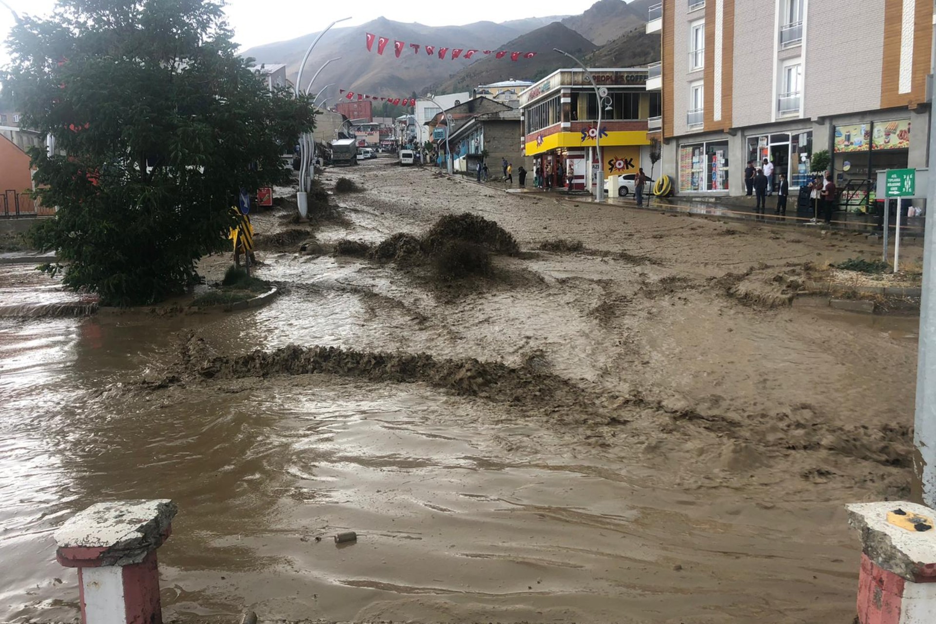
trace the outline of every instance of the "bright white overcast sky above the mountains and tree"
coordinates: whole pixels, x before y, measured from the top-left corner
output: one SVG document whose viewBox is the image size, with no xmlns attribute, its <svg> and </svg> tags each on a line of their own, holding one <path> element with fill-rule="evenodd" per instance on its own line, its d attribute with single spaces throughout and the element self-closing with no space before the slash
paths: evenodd
<svg viewBox="0 0 936 624">
<path fill-rule="evenodd" d="M 54 0 L 4 0 L 21 14 L 48 15 Z M 537 0 L 505 2 L 504 0 L 471 0 L 465 4 L 410 0 L 228 0 L 227 18 L 234 28 L 235 39 L 246 49 L 261 43 L 282 41 L 314 33 L 334 20 L 350 17 L 339 25 L 353 25 L 386 17 L 397 22 L 419 22 L 431 26 L 471 22 L 506 22 L 521 18 L 548 15 L 574 15 L 591 7 L 595 0 Z M 348 8 L 348 7 L 354 7 Z M 6 40 L 13 17 L 0 5 L 0 37 Z M 6 46 L 0 48 L 0 65 L 7 65 Z"/>
</svg>

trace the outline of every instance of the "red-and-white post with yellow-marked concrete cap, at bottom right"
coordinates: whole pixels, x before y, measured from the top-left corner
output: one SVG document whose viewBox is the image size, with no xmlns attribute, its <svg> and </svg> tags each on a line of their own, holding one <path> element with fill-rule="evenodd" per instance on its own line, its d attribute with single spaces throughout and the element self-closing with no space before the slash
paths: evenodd
<svg viewBox="0 0 936 624">
<path fill-rule="evenodd" d="M 861 533 L 859 624 L 936 621 L 936 512 L 907 501 L 846 507 Z"/>
</svg>

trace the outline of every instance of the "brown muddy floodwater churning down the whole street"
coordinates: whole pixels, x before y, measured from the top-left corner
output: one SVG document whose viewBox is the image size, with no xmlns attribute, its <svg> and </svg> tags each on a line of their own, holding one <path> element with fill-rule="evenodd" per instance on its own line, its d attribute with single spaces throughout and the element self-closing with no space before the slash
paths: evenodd
<svg viewBox="0 0 936 624">
<path fill-rule="evenodd" d="M 472 211 L 521 254 L 452 288 L 261 247 L 280 296 L 202 314 L 43 316 L 88 300 L 0 265 L 0 621 L 77 621 L 51 533 L 125 498 L 179 504 L 168 621 L 852 621 L 842 505 L 908 494 L 917 319 L 797 291 L 872 243 L 339 175 L 319 242 Z"/>
</svg>

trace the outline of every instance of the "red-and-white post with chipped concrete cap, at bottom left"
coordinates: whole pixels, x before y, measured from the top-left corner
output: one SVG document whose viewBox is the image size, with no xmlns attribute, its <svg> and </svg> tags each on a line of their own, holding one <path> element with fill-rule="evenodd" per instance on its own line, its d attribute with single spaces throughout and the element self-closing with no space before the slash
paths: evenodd
<svg viewBox="0 0 936 624">
<path fill-rule="evenodd" d="M 55 558 L 78 568 L 82 624 L 161 624 L 156 548 L 171 532 L 172 501 L 99 502 L 55 531 Z"/>
</svg>

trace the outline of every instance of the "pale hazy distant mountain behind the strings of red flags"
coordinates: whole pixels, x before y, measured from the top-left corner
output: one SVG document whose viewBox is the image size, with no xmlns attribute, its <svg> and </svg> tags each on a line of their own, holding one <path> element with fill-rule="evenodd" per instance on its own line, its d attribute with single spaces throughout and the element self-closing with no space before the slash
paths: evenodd
<svg viewBox="0 0 936 624">
<path fill-rule="evenodd" d="M 345 89 L 356 93 L 407 97 L 411 94 L 425 94 L 429 85 L 446 80 L 462 67 L 472 65 L 477 61 L 464 58 L 452 60 L 450 55 L 445 59 L 438 56 L 428 56 L 425 51 L 414 53 L 409 47 L 411 43 L 421 46 L 445 46 L 448 48 L 477 48 L 482 50 L 511 50 L 511 51 L 539 51 L 539 48 L 508 48 L 505 41 L 517 40 L 532 30 L 539 29 L 548 22 L 561 20 L 556 18 L 528 18 L 511 22 L 475 22 L 464 26 L 426 26 L 419 23 L 394 22 L 386 18 L 378 18 L 359 26 L 345 28 L 332 28 L 315 46 L 302 73 L 301 89 L 308 86 L 318 68 L 327 60 L 341 57 L 340 60 L 329 64 L 315 80 L 313 93 L 329 83 L 330 87 L 323 97 L 329 98 L 334 104 L 339 97 L 338 90 Z M 367 51 L 364 45 L 365 33 L 377 36 L 387 36 L 390 43 L 383 55 Z M 261 63 L 286 65 L 286 76 L 289 80 L 296 80 L 302 56 L 314 40 L 317 33 L 300 36 L 288 41 L 278 41 L 262 46 L 256 46 L 243 51 L 243 56 L 256 59 L 257 65 Z M 406 43 L 400 58 L 393 52 L 393 41 L 400 40 Z M 547 48 L 549 50 L 550 48 Z M 500 60 L 500 64 L 520 65 L 526 62 L 513 63 L 509 59 Z M 515 70 L 516 71 L 516 70 Z M 474 86 L 474 85 L 473 85 Z"/>
</svg>

